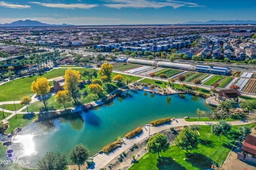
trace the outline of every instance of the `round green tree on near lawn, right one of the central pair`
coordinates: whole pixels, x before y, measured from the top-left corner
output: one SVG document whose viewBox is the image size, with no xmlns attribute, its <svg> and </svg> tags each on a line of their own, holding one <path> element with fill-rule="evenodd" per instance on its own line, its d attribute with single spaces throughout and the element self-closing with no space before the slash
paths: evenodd
<svg viewBox="0 0 256 170">
<path fill-rule="evenodd" d="M 178 148 L 188 150 L 197 149 L 199 145 L 199 135 L 196 131 L 185 127 L 180 134 L 174 139 Z"/>
</svg>

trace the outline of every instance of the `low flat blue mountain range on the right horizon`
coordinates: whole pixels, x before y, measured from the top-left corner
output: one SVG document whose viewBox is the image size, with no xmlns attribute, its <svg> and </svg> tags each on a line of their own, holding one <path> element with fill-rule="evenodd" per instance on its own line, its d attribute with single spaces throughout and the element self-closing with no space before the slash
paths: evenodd
<svg viewBox="0 0 256 170">
<path fill-rule="evenodd" d="M 191 25 L 198 25 L 198 24 L 256 24 L 256 21 L 243 21 L 243 20 L 229 20 L 229 21 L 218 21 L 218 20 L 210 20 L 206 22 L 200 21 L 189 21 L 181 24 L 191 24 Z"/>
</svg>

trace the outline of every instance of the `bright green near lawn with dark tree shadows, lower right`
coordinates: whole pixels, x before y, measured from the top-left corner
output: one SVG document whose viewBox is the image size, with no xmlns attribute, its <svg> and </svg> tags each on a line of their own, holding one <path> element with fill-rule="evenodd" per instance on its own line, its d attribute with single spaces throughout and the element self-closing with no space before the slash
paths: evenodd
<svg viewBox="0 0 256 170">
<path fill-rule="evenodd" d="M 250 126 L 255 127 L 255 123 Z M 200 139 L 207 140 L 207 145 L 200 144 L 198 149 L 190 153 L 178 149 L 175 145 L 170 146 L 169 150 L 160 153 L 160 159 L 157 158 L 157 154 L 148 152 L 129 170 L 200 170 L 210 169 L 212 161 L 220 164 L 226 159 L 239 136 L 238 126 L 232 127 L 227 135 L 221 135 L 221 140 L 210 132 L 210 126 L 200 127 Z"/>
</svg>

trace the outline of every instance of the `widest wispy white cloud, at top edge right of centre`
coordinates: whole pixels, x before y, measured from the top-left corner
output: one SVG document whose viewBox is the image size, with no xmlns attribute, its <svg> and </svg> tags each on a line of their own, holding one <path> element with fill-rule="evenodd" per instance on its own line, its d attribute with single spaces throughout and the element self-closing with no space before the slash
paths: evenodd
<svg viewBox="0 0 256 170">
<path fill-rule="evenodd" d="M 172 7 L 174 9 L 187 6 L 187 7 L 202 7 L 196 3 L 192 2 L 182 2 L 174 0 L 104 0 L 109 4 L 104 4 L 104 6 L 109 8 L 162 8 L 162 7 Z"/>
</svg>

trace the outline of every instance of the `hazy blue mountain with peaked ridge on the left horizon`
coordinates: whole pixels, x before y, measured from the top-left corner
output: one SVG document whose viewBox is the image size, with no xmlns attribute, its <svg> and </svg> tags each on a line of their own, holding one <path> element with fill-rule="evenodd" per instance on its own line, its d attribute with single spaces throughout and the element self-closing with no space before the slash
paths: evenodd
<svg viewBox="0 0 256 170">
<path fill-rule="evenodd" d="M 4 23 L 0 24 L 0 27 L 47 27 L 47 26 L 74 26 L 74 25 L 68 25 L 66 23 L 63 23 L 62 25 L 56 25 L 56 24 L 48 24 L 48 23 L 42 23 L 39 21 L 32 21 L 32 20 L 18 20 L 14 21 L 12 23 Z"/>
</svg>

